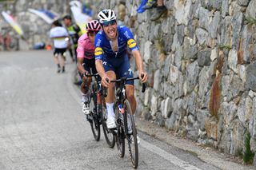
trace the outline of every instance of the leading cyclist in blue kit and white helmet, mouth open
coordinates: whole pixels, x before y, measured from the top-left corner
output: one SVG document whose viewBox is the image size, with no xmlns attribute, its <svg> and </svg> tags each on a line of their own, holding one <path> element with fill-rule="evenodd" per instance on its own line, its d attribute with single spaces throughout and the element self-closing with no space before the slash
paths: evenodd
<svg viewBox="0 0 256 170">
<path fill-rule="evenodd" d="M 138 75 L 142 83 L 147 80 L 147 73 L 143 68 L 141 53 L 138 45 L 134 41 L 134 36 L 126 26 L 117 26 L 116 15 L 113 10 L 102 10 L 98 14 L 98 22 L 102 30 L 96 35 L 95 46 L 95 63 L 99 75 L 102 77 L 102 85 L 108 87 L 106 97 L 107 121 L 108 128 L 115 128 L 114 121 L 114 84 L 109 83 L 118 77 L 133 77 L 130 69 L 130 62 L 127 57 L 127 45 L 132 52 Z M 141 75 L 144 75 L 143 77 Z M 107 81 L 109 80 L 109 81 Z M 126 96 L 130 101 L 133 113 L 136 111 L 136 100 L 134 97 L 134 81 L 126 82 Z"/>
</svg>

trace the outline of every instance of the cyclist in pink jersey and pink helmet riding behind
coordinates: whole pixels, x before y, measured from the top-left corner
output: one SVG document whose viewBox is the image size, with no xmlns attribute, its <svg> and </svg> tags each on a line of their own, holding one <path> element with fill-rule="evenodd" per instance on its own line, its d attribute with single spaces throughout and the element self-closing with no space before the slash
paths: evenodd
<svg viewBox="0 0 256 170">
<path fill-rule="evenodd" d="M 92 81 L 91 77 L 86 77 L 87 73 L 97 73 L 95 67 L 95 57 L 94 57 L 94 38 L 98 31 L 101 30 L 101 26 L 97 20 L 93 20 L 87 23 L 86 25 L 86 34 L 83 34 L 78 39 L 78 71 L 82 78 L 82 112 L 89 114 L 89 97 L 90 91 L 88 88 L 84 89 L 85 83 L 87 87 L 90 86 Z"/>
</svg>

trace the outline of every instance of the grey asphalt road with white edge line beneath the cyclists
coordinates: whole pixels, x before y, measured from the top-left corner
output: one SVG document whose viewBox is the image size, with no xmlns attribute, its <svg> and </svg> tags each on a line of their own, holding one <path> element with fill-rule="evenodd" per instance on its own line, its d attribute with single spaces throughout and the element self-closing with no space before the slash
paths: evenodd
<svg viewBox="0 0 256 170">
<path fill-rule="evenodd" d="M 72 84 L 52 52 L 0 52 L 0 169 L 132 169 L 104 137 L 96 142 Z M 139 132 L 138 169 L 218 169 Z"/>
</svg>

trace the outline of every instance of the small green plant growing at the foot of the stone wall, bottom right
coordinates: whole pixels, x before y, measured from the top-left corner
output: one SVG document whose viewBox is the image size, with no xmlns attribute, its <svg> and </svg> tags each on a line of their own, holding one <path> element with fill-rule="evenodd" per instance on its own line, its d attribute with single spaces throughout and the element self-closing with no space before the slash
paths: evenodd
<svg viewBox="0 0 256 170">
<path fill-rule="evenodd" d="M 247 132 L 246 133 L 246 139 L 245 139 L 245 147 L 246 147 L 246 150 L 245 152 L 243 153 L 243 161 L 246 163 L 246 164 L 252 164 L 253 161 L 254 161 L 254 154 L 255 152 L 252 152 L 250 150 L 250 132 Z"/>
</svg>

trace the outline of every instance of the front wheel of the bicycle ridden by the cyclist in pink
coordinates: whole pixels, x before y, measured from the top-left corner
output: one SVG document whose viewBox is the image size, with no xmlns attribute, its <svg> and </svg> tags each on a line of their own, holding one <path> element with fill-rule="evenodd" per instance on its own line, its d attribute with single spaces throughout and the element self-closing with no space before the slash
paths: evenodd
<svg viewBox="0 0 256 170">
<path fill-rule="evenodd" d="M 106 143 L 110 146 L 110 148 L 114 148 L 115 140 L 114 140 L 114 134 L 110 132 L 110 130 L 106 126 L 106 108 L 102 104 L 100 105 L 100 110 L 101 110 L 101 115 L 102 115 L 102 128 L 103 128 L 103 133 L 106 139 Z"/>
</svg>

